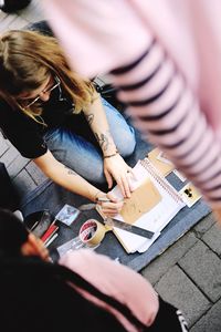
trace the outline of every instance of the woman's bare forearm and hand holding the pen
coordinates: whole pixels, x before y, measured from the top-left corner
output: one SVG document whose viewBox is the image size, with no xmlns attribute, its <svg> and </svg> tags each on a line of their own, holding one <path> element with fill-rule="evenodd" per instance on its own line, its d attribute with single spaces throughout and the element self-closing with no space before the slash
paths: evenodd
<svg viewBox="0 0 221 332">
<path fill-rule="evenodd" d="M 43 156 L 35 158 L 34 163 L 54 183 L 72 193 L 84 196 L 95 203 L 98 197 L 107 196 L 110 201 L 101 203 L 102 210 L 105 215 L 107 214 L 109 216 L 114 216 L 117 215 L 122 209 L 122 201 L 117 201 L 113 195 L 106 195 L 102 190 L 91 185 L 74 170 L 56 160 L 50 151 L 48 151 Z"/>
</svg>

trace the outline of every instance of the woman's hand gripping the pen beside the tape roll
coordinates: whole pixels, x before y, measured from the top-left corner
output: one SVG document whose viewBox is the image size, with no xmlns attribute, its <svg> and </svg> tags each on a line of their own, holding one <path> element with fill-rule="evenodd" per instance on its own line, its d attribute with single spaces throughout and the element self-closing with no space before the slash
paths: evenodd
<svg viewBox="0 0 221 332">
<path fill-rule="evenodd" d="M 112 193 L 104 194 L 101 191 L 97 195 L 97 204 L 106 217 L 115 217 L 120 212 L 124 206 L 124 200 L 119 200 Z"/>
</svg>

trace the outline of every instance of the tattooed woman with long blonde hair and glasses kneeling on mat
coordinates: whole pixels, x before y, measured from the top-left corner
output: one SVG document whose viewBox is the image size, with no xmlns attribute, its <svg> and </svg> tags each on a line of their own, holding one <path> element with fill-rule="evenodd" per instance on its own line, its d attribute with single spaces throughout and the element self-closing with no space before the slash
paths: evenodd
<svg viewBox="0 0 221 332">
<path fill-rule="evenodd" d="M 76 45 L 77 46 L 77 45 Z M 114 180 L 130 196 L 134 128 L 101 98 L 93 83 L 70 70 L 53 37 L 9 31 L 0 38 L 0 126 L 22 156 L 52 180 L 93 201 Z M 122 201 L 109 196 L 104 214 Z"/>
</svg>

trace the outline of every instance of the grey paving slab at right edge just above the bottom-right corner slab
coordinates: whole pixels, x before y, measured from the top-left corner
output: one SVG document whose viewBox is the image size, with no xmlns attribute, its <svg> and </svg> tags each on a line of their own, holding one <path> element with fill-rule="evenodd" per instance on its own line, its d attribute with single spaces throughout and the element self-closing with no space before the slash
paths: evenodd
<svg viewBox="0 0 221 332">
<path fill-rule="evenodd" d="M 220 299 L 221 261 L 208 246 L 198 240 L 178 263 L 211 301 Z"/>
</svg>

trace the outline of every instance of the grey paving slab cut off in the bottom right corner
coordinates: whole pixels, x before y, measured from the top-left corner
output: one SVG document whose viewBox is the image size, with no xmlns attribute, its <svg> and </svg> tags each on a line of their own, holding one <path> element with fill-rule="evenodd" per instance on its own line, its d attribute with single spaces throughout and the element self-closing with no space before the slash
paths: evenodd
<svg viewBox="0 0 221 332">
<path fill-rule="evenodd" d="M 221 331 L 221 300 L 219 300 L 191 329 L 190 332 Z"/>
</svg>

